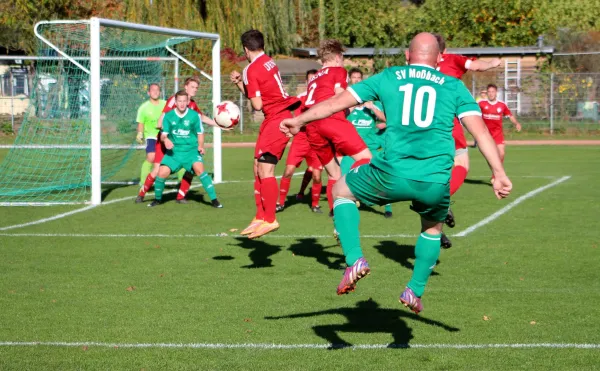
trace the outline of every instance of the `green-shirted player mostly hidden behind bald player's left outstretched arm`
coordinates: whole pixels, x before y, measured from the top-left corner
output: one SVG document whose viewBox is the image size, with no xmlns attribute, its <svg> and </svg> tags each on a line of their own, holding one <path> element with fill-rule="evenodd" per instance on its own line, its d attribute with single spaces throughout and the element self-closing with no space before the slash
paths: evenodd
<svg viewBox="0 0 600 371">
<path fill-rule="evenodd" d="M 363 79 L 363 73 L 358 68 L 352 68 L 348 72 L 350 76 L 350 84 L 354 85 L 359 83 Z M 385 114 L 383 113 L 383 106 L 380 102 L 365 102 L 355 107 L 350 107 L 350 113 L 346 118 L 354 125 L 354 128 L 365 141 L 365 144 L 369 148 L 371 153 L 377 153 L 383 148 L 383 138 L 385 133 Z M 351 157 L 344 156 L 340 160 L 340 167 L 342 174 L 347 174 L 350 171 L 354 160 Z M 386 218 L 392 217 L 392 205 L 385 204 L 384 214 Z"/>
</svg>

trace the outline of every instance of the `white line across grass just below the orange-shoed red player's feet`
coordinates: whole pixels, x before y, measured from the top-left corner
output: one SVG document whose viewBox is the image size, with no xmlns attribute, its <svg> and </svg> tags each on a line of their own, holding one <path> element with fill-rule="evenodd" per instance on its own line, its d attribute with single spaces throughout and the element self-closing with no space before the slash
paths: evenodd
<svg viewBox="0 0 600 371">
<path fill-rule="evenodd" d="M 105 233 L 0 233 L 2 237 L 73 237 L 73 238 L 205 238 L 205 237 L 243 237 L 240 234 L 105 234 Z M 281 235 L 268 234 L 263 238 L 333 238 L 328 235 Z M 416 238 L 416 234 L 380 234 L 362 235 L 361 238 Z"/>
</svg>

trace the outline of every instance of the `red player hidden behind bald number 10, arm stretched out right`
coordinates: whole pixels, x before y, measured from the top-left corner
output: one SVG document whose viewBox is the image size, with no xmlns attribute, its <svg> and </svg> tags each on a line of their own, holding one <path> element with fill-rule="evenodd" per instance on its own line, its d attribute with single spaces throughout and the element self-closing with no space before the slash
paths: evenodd
<svg viewBox="0 0 600 371">
<path fill-rule="evenodd" d="M 459 54 L 448 54 L 446 51 L 446 41 L 444 37 L 435 34 L 440 50 L 442 51 L 442 58 L 438 63 L 438 71 L 443 74 L 456 77 L 460 79 L 467 71 L 487 71 L 492 68 L 496 68 L 502 64 L 499 58 L 493 58 L 491 61 L 486 62 L 480 59 L 473 59 Z M 450 175 L 450 195 L 452 196 L 458 189 L 463 185 L 469 172 L 469 153 L 467 149 L 467 138 L 463 127 L 458 121 L 458 118 L 454 118 L 454 129 L 452 130 L 452 137 L 454 138 L 454 147 L 456 149 L 454 155 L 454 168 Z M 448 210 L 448 217 L 446 218 L 446 225 L 450 228 L 454 228 L 456 224 L 454 220 L 454 214 L 452 210 Z M 452 247 L 452 242 L 448 239 L 445 234 L 442 234 L 442 247 Z"/>
</svg>

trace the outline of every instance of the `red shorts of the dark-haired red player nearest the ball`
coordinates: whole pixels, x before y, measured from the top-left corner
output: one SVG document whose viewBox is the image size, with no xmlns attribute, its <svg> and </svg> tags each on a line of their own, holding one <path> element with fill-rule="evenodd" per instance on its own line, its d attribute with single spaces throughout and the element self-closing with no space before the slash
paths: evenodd
<svg viewBox="0 0 600 371">
<path fill-rule="evenodd" d="M 263 153 L 270 153 L 281 160 L 285 147 L 290 138 L 279 130 L 281 121 L 292 118 L 292 112 L 285 110 L 265 120 L 260 125 L 256 147 L 254 147 L 254 158 L 259 158 Z"/>
</svg>

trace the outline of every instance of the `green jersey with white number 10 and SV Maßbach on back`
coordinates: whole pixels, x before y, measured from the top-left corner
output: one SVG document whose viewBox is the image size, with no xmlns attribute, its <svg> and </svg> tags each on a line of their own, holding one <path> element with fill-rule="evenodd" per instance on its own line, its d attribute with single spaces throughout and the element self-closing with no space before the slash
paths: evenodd
<svg viewBox="0 0 600 371">
<path fill-rule="evenodd" d="M 454 117 L 481 116 L 465 85 L 425 65 L 387 68 L 348 88 L 360 103 L 379 100 L 387 129 L 372 164 L 406 179 L 442 183 L 454 163 Z"/>
</svg>

